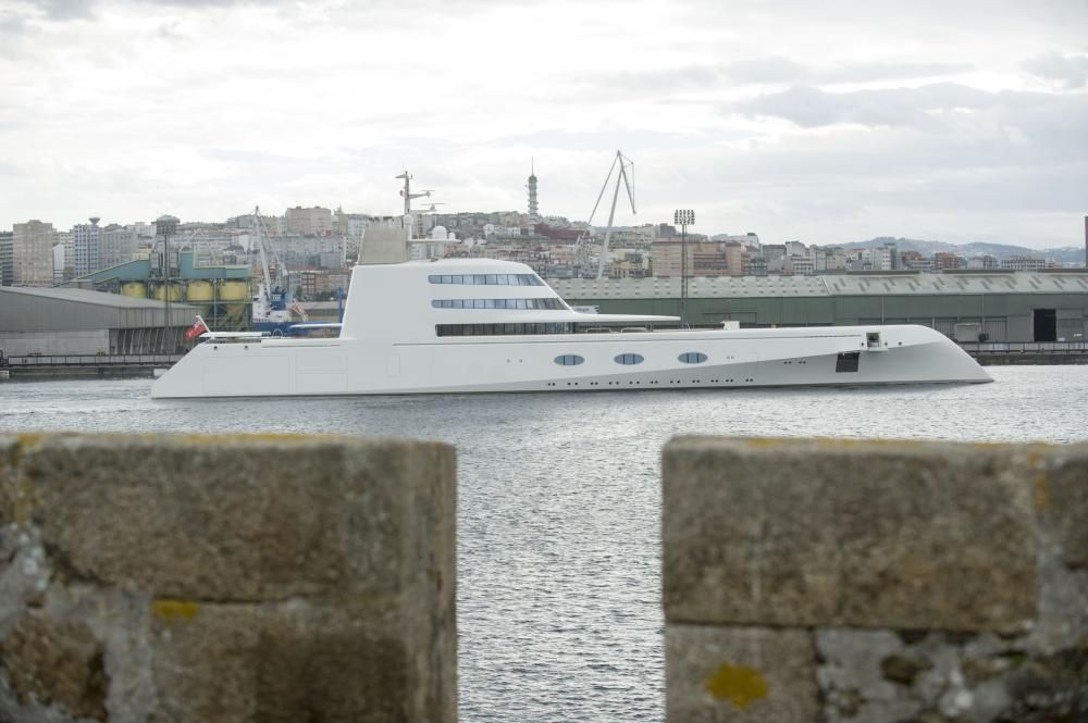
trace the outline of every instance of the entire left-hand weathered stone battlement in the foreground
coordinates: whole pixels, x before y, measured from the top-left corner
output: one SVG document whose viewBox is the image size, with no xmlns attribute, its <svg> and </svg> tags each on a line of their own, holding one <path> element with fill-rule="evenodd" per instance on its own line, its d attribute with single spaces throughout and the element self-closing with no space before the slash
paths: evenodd
<svg viewBox="0 0 1088 723">
<path fill-rule="evenodd" d="M 0 435 L 0 720 L 456 720 L 455 458 Z"/>
</svg>

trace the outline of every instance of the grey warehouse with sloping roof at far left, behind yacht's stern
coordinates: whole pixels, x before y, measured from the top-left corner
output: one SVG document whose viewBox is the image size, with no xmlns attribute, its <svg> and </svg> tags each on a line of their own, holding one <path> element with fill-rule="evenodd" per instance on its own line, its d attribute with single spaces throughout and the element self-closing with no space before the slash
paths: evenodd
<svg viewBox="0 0 1088 723">
<path fill-rule="evenodd" d="M 73 288 L 0 286 L 0 350 L 7 357 L 174 354 L 194 307 Z"/>
</svg>

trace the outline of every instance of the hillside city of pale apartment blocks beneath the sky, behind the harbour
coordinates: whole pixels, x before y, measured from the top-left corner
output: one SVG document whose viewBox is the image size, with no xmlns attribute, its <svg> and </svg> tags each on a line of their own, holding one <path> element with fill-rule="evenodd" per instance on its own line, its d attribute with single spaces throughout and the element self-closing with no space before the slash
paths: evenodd
<svg viewBox="0 0 1088 723">
<path fill-rule="evenodd" d="M 562 216 L 539 214 L 535 177 L 530 213 L 518 211 L 412 213 L 408 222 L 417 258 L 489 257 L 520 261 L 545 277 L 595 276 L 603 229 Z M 535 219 L 535 223 L 534 223 Z M 197 266 L 249 264 L 258 272 L 254 215 L 222 223 L 183 223 L 170 239 L 171 253 L 189 251 Z M 304 297 L 329 297 L 347 284 L 347 269 L 360 254 L 370 228 L 404 228 L 400 215 L 347 213 L 343 209 L 294 207 L 282 215 L 261 215 L 260 233 L 292 274 L 292 288 Z M 30 220 L 0 232 L 0 284 L 64 284 L 161 253 L 153 222 L 100 225 L 100 219 L 70 230 Z M 157 246 L 158 245 L 158 246 Z M 415 248 L 415 247 L 413 247 Z M 605 273 L 609 278 L 766 276 L 846 272 L 943 272 L 960 270 L 1039 271 L 1058 265 L 1035 255 L 965 258 L 939 251 L 931 255 L 900 249 L 892 239 L 864 245 L 815 246 L 792 240 L 764 244 L 754 233 L 681 238 L 668 224 L 613 229 Z"/>
</svg>

